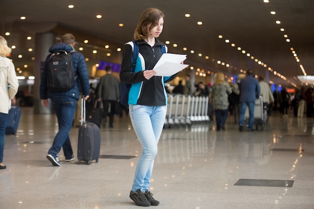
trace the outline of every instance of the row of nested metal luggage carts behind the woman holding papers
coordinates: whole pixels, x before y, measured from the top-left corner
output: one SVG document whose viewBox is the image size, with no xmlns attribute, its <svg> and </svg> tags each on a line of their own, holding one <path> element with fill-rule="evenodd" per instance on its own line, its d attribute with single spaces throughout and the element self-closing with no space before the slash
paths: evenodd
<svg viewBox="0 0 314 209">
<path fill-rule="evenodd" d="M 168 108 L 164 128 L 191 127 L 209 122 L 207 96 L 168 94 Z"/>
</svg>

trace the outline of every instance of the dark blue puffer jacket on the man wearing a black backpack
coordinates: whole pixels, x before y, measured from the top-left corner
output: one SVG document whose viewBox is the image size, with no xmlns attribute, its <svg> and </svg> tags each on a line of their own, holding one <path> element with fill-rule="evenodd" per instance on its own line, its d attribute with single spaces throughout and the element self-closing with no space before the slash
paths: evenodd
<svg viewBox="0 0 314 209">
<path fill-rule="evenodd" d="M 53 98 L 53 97 L 68 96 L 68 97 L 73 97 L 76 100 L 78 100 L 80 98 L 80 89 L 82 91 L 83 96 L 89 95 L 89 80 L 88 80 L 87 66 L 86 66 L 84 56 L 79 52 L 75 52 L 71 54 L 73 67 L 75 71 L 75 78 L 76 78 L 74 87 L 68 91 L 63 91 L 63 92 L 49 92 L 48 91 L 47 89 L 48 60 L 51 54 L 58 50 L 64 50 L 67 52 L 74 51 L 73 47 L 66 43 L 55 44 L 49 49 L 50 54 L 47 56 L 44 68 L 42 69 L 42 72 L 41 72 L 40 98 L 48 99 L 48 98 Z"/>
</svg>

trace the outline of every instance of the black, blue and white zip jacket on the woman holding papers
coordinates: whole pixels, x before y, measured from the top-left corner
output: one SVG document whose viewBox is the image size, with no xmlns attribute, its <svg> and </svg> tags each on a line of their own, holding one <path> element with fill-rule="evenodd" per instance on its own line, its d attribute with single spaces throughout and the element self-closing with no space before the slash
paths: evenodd
<svg viewBox="0 0 314 209">
<path fill-rule="evenodd" d="M 158 39 L 155 39 L 153 47 L 145 41 L 136 41 L 136 43 L 139 46 L 139 52 L 135 72 L 131 73 L 133 42 L 125 44 L 121 64 L 120 81 L 126 84 L 132 84 L 129 91 L 128 104 L 147 106 L 167 105 L 165 83 L 173 80 L 177 74 L 170 77 L 153 76 L 149 80 L 146 80 L 143 76 L 143 71 L 153 69 L 162 57 L 161 46 L 163 46 L 164 43 L 160 42 Z"/>
</svg>

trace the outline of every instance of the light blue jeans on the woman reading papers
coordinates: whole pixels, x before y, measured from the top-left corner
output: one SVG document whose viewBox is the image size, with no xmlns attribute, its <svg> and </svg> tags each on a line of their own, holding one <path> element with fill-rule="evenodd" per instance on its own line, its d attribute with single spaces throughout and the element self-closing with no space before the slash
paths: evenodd
<svg viewBox="0 0 314 209">
<path fill-rule="evenodd" d="M 149 190 L 154 158 L 162 134 L 167 106 L 129 105 L 129 115 L 134 131 L 142 145 L 142 154 L 135 170 L 132 191 Z"/>
</svg>

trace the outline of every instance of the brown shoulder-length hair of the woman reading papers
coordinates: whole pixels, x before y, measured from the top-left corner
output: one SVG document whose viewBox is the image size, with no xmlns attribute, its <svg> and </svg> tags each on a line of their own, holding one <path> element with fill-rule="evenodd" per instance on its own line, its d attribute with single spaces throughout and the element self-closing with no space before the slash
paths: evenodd
<svg viewBox="0 0 314 209">
<path fill-rule="evenodd" d="M 162 11 L 156 8 L 146 9 L 139 18 L 135 32 L 134 40 L 141 41 L 148 36 L 148 31 L 155 27 L 161 18 L 165 19 L 165 15 Z M 149 30 L 147 31 L 147 25 L 150 25 Z"/>
</svg>

